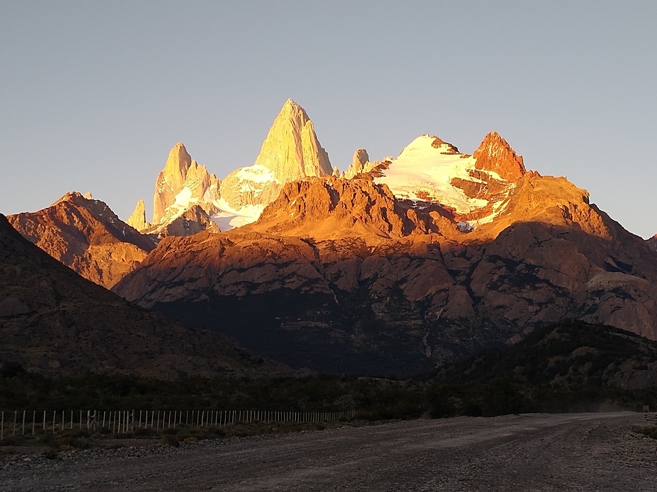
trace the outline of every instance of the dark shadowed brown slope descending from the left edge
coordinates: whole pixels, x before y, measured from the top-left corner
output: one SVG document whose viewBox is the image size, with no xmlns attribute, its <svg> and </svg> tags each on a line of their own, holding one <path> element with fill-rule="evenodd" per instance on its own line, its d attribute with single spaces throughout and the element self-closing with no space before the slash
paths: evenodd
<svg viewBox="0 0 657 492">
<path fill-rule="evenodd" d="M 50 375 L 288 373 L 222 334 L 185 327 L 83 279 L 1 215 L 0 338 L 0 361 Z"/>
</svg>

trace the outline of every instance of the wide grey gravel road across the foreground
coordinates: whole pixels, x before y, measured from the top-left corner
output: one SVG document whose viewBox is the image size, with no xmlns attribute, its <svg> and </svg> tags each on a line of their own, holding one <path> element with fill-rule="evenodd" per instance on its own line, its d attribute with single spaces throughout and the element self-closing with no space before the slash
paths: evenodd
<svg viewBox="0 0 657 492">
<path fill-rule="evenodd" d="M 641 414 L 445 418 L 0 462 L 1 491 L 657 491 Z"/>
</svg>

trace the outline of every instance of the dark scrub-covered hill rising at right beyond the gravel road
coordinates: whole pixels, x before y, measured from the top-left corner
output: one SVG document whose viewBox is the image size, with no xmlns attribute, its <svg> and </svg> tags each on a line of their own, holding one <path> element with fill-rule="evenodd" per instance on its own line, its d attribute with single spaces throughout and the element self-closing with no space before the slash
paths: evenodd
<svg viewBox="0 0 657 492">
<path fill-rule="evenodd" d="M 514 346 L 446 365 L 436 372 L 436 379 L 453 383 L 506 379 L 561 387 L 655 387 L 657 342 L 602 324 L 551 324 Z"/>
</svg>

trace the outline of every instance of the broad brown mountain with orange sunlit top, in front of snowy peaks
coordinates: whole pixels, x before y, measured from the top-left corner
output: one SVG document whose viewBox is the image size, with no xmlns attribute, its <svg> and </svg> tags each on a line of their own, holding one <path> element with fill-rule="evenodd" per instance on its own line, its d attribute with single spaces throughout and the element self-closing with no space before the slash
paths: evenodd
<svg viewBox="0 0 657 492">
<path fill-rule="evenodd" d="M 570 318 L 656 339 L 645 242 L 564 178 L 516 177 L 469 231 L 371 178 L 292 182 L 256 223 L 164 240 L 115 291 L 331 372 L 419 372 Z"/>
</svg>

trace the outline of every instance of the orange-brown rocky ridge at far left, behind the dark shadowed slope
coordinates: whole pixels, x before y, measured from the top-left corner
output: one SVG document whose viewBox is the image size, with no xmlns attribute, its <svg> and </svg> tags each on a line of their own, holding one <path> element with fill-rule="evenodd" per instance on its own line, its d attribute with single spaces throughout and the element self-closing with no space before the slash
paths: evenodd
<svg viewBox="0 0 657 492">
<path fill-rule="evenodd" d="M 105 288 L 134 269 L 156 244 L 155 238 L 121 221 L 103 201 L 78 192 L 8 220 L 25 239 Z"/>
</svg>

